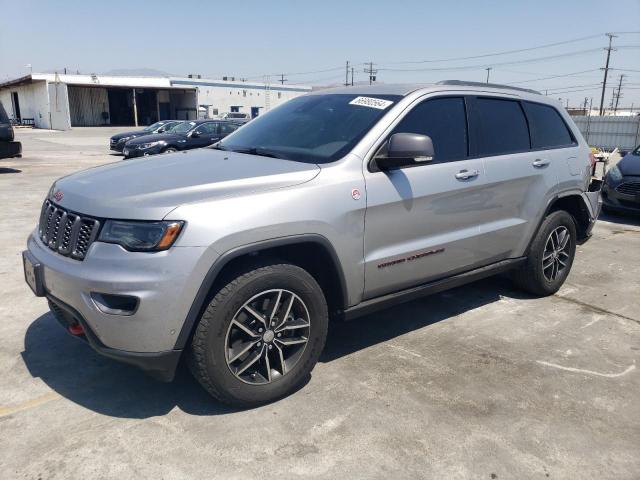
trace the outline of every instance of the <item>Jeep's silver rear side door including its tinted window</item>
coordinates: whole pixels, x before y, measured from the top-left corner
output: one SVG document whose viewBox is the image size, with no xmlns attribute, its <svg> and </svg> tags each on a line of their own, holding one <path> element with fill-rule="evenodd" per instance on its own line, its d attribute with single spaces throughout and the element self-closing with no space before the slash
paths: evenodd
<svg viewBox="0 0 640 480">
<path fill-rule="evenodd" d="M 484 158 L 491 198 L 477 248 L 491 261 L 520 256 L 557 190 L 558 158 L 532 148 L 525 104 L 518 99 L 474 97 L 469 107 L 471 149 Z"/>
</svg>

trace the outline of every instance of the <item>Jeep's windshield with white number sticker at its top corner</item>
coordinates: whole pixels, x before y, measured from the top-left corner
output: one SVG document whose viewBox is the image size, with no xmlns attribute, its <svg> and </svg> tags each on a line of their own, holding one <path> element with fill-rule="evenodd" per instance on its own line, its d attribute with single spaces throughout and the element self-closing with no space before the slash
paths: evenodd
<svg viewBox="0 0 640 480">
<path fill-rule="evenodd" d="M 346 155 L 400 98 L 350 94 L 294 98 L 247 123 L 218 148 L 268 151 L 300 162 L 333 162 Z"/>
</svg>

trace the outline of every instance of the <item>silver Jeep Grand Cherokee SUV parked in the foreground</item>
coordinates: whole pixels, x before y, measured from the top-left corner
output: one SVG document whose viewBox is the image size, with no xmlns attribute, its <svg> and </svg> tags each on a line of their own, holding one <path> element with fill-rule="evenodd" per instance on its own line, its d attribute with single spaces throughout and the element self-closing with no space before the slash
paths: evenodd
<svg viewBox="0 0 640 480">
<path fill-rule="evenodd" d="M 507 270 L 556 292 L 600 209 L 561 105 L 457 81 L 326 90 L 213 147 L 59 179 L 25 279 L 98 353 L 215 398 L 295 390 L 351 319 Z M 593 189 L 595 190 L 595 189 Z"/>
</svg>

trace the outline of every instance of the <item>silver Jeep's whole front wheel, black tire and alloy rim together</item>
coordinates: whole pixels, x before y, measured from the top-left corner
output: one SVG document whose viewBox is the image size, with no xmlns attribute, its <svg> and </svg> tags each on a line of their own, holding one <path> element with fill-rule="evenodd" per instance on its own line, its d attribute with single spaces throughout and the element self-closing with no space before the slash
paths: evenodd
<svg viewBox="0 0 640 480">
<path fill-rule="evenodd" d="M 224 403 L 272 402 L 309 378 L 327 326 L 316 280 L 296 265 L 264 260 L 217 289 L 193 334 L 189 367 Z"/>
</svg>

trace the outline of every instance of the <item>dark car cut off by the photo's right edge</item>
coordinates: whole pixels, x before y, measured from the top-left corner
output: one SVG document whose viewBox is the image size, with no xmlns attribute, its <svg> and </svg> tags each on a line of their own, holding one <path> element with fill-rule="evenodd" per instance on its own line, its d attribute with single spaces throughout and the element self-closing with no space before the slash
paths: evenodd
<svg viewBox="0 0 640 480">
<path fill-rule="evenodd" d="M 607 171 L 602 204 L 608 210 L 640 213 L 640 145 Z"/>
</svg>

